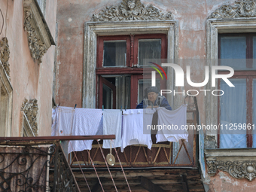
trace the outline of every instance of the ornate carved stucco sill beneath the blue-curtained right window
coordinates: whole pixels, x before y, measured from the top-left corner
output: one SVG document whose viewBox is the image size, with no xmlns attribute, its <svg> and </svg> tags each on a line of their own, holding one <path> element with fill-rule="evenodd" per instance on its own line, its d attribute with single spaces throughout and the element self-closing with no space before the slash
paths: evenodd
<svg viewBox="0 0 256 192">
<path fill-rule="evenodd" d="M 228 172 L 233 178 L 256 177 L 256 149 L 207 149 L 207 173 L 215 176 L 217 170 Z"/>
</svg>

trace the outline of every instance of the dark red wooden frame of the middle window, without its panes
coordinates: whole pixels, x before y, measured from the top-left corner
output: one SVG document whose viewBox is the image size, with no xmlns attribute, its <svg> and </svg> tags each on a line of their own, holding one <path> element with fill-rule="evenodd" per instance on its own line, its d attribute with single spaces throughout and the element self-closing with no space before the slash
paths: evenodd
<svg viewBox="0 0 256 192">
<path fill-rule="evenodd" d="M 139 35 L 114 35 L 114 36 L 98 36 L 97 37 L 97 60 L 96 60 L 96 108 L 102 108 L 102 96 L 99 94 L 100 85 L 99 78 L 101 75 L 131 75 L 130 90 L 130 108 L 136 108 L 138 96 L 138 81 L 143 76 L 143 68 L 137 67 L 139 39 L 161 39 L 161 59 L 167 58 L 167 35 L 166 34 L 139 34 Z M 126 40 L 126 66 L 122 67 L 104 67 L 103 66 L 103 45 L 104 41 Z M 148 77 L 151 78 L 151 77 Z M 157 74 L 156 78 L 160 78 Z M 166 80 L 160 80 L 161 89 L 166 89 Z M 137 94 L 134 94 L 137 93 Z"/>
</svg>

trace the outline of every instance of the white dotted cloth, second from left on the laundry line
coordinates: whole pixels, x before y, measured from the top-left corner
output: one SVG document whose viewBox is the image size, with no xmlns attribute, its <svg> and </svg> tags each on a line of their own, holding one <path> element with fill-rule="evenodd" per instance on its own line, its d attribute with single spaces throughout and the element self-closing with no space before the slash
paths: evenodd
<svg viewBox="0 0 256 192">
<path fill-rule="evenodd" d="M 95 136 L 102 130 L 102 109 L 76 108 L 72 136 Z M 93 140 L 70 141 L 69 153 L 92 148 Z"/>
</svg>

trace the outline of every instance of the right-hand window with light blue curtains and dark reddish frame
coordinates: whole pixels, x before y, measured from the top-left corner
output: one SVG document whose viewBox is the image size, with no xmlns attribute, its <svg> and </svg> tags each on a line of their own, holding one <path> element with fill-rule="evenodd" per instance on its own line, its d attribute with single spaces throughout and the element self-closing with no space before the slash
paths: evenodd
<svg viewBox="0 0 256 192">
<path fill-rule="evenodd" d="M 224 81 L 219 81 L 220 90 L 224 95 L 218 101 L 218 121 L 224 126 L 219 130 L 219 148 L 255 148 L 256 138 L 253 124 L 256 117 L 256 34 L 236 33 L 221 34 L 218 38 L 219 65 L 230 66 L 235 73 L 229 78 L 235 87 L 229 87 Z M 219 72 L 225 74 L 226 72 Z M 251 129 L 244 129 L 244 125 Z M 233 126 L 228 134 L 226 126 Z M 237 128 L 236 128 L 237 126 Z M 237 129 L 237 130 L 235 130 Z"/>
</svg>

